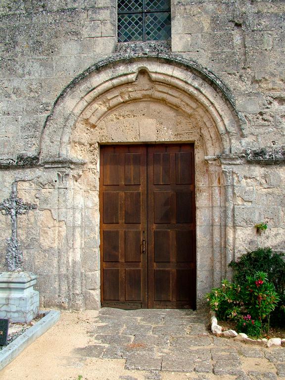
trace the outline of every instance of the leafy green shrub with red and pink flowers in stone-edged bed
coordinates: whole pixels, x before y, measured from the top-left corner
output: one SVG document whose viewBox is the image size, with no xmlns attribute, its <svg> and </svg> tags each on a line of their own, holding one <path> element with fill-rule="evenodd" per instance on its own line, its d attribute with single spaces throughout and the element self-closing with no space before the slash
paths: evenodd
<svg viewBox="0 0 285 380">
<path fill-rule="evenodd" d="M 246 277 L 241 286 L 224 280 L 206 296 L 218 319 L 236 321 L 238 332 L 255 337 L 268 332 L 270 313 L 279 301 L 264 272 Z"/>
</svg>

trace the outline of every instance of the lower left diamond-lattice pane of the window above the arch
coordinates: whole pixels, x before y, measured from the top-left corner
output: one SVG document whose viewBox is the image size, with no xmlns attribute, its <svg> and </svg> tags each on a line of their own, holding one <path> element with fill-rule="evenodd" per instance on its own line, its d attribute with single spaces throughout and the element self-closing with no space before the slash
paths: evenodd
<svg viewBox="0 0 285 380">
<path fill-rule="evenodd" d="M 142 14 L 118 15 L 118 41 L 142 41 Z"/>
</svg>

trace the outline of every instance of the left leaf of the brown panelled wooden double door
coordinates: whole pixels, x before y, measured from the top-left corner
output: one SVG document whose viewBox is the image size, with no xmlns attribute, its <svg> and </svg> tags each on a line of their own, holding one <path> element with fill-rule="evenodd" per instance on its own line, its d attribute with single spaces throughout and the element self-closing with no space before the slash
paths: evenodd
<svg viewBox="0 0 285 380">
<path fill-rule="evenodd" d="M 100 252 L 102 306 L 147 307 L 146 150 L 101 146 Z"/>
</svg>

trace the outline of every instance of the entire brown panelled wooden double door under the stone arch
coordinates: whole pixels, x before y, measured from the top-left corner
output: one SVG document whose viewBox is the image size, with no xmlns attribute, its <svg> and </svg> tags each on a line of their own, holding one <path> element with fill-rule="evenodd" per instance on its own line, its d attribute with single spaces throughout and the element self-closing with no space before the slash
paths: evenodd
<svg viewBox="0 0 285 380">
<path fill-rule="evenodd" d="M 195 308 L 193 144 L 100 148 L 101 304 Z"/>
</svg>

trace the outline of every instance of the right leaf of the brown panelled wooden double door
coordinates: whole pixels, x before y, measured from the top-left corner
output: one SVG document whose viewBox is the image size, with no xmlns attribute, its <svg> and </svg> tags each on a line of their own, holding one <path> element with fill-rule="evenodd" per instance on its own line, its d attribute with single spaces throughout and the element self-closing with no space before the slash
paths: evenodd
<svg viewBox="0 0 285 380">
<path fill-rule="evenodd" d="M 147 149 L 149 308 L 195 307 L 193 166 L 191 144 Z"/>
</svg>

